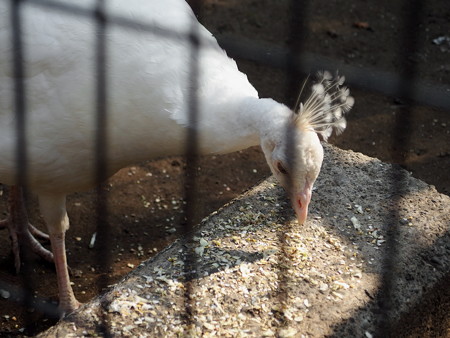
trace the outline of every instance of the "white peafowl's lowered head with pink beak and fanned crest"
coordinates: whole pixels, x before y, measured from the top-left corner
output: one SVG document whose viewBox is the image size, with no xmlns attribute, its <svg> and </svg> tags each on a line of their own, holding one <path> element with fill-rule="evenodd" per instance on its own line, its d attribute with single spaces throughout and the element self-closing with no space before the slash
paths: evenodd
<svg viewBox="0 0 450 338">
<path fill-rule="evenodd" d="M 319 72 L 310 96 L 296 105 L 282 135 L 262 140 L 267 163 L 288 192 L 299 224 L 307 218 L 313 185 L 322 166 L 319 137 L 327 141 L 333 129 L 341 133 L 346 127 L 344 114 L 354 104 L 344 80 L 337 74 L 333 77 L 327 71 Z"/>
</svg>

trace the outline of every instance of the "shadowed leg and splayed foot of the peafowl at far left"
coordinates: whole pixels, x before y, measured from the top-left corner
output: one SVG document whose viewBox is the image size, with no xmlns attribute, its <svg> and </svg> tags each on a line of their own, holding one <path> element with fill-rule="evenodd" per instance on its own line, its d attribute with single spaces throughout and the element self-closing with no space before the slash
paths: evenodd
<svg viewBox="0 0 450 338">
<path fill-rule="evenodd" d="M 48 235 L 36 229 L 28 221 L 22 189 L 12 186 L 9 192 L 9 217 L 0 222 L 0 229 L 7 228 L 11 237 L 14 265 L 20 271 L 20 245 L 26 245 L 35 254 L 53 262 L 53 254 L 39 243 L 36 237 L 49 239 Z"/>
</svg>

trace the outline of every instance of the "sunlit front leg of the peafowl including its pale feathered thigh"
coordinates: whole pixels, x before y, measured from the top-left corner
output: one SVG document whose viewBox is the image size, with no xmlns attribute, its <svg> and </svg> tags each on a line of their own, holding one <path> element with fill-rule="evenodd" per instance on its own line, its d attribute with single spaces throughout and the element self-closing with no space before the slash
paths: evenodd
<svg viewBox="0 0 450 338">
<path fill-rule="evenodd" d="M 42 216 L 47 223 L 53 255 L 55 257 L 56 277 L 58 281 L 59 309 L 62 315 L 75 311 L 80 303 L 70 285 L 67 267 L 65 233 L 69 229 L 65 195 L 39 195 Z"/>
</svg>

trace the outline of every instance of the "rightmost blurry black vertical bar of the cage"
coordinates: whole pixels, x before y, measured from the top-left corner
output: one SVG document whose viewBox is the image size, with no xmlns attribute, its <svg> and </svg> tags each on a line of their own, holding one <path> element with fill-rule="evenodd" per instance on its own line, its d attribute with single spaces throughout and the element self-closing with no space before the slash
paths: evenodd
<svg viewBox="0 0 450 338">
<path fill-rule="evenodd" d="M 398 51 L 399 59 L 403 65 L 401 69 L 402 81 L 399 83 L 398 92 L 402 97 L 410 97 L 413 92 L 412 83 L 416 76 L 416 66 L 409 62 L 410 57 L 418 50 L 418 27 L 420 27 L 421 14 L 423 8 L 422 0 L 407 0 L 404 2 L 407 12 L 404 17 L 404 34 L 402 41 L 398 44 L 401 48 Z M 401 162 L 403 154 L 409 149 L 410 128 L 413 124 L 412 105 L 408 101 L 396 115 L 394 126 L 394 138 L 391 145 L 391 157 L 395 162 Z M 389 337 L 392 332 L 391 311 L 394 306 L 396 291 L 396 270 L 399 246 L 399 223 L 400 223 L 400 202 L 405 191 L 406 172 L 399 170 L 395 166 L 390 172 L 391 191 L 392 191 L 392 208 L 386 215 L 386 224 L 389 227 L 386 235 L 386 250 L 383 257 L 383 274 L 381 276 L 381 285 L 378 294 L 378 302 L 381 309 L 380 320 L 378 322 L 376 336 Z"/>
</svg>

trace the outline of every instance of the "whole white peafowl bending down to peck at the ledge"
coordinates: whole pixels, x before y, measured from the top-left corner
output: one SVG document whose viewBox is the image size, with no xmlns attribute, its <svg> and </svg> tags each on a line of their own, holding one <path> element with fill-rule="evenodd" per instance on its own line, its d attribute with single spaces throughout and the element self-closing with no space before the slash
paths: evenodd
<svg viewBox="0 0 450 338">
<path fill-rule="evenodd" d="M 84 8 L 94 8 L 95 4 L 91 0 L 61 2 Z M 0 182 L 14 185 L 17 135 L 8 6 L 8 2 L 0 2 Z M 340 115 L 322 117 L 336 111 L 335 102 L 341 99 L 340 104 L 348 107 L 340 112 L 353 104 L 347 91 L 336 94 L 340 79 L 332 87 L 321 84 L 320 93 L 317 88 L 313 90 L 312 101 L 301 106 L 300 114 L 294 114 L 272 99 L 258 98 L 246 75 L 239 72 L 183 0 L 111 0 L 106 2 L 106 13 L 158 28 L 155 33 L 114 23 L 106 28 L 108 175 L 139 161 L 183 154 L 187 127 L 196 128 L 201 154 L 261 144 L 272 172 L 291 195 L 299 222 L 304 222 L 323 158 L 316 131 L 325 130 L 327 136 L 330 127 L 345 127 Z M 21 14 L 27 179 L 39 197 L 49 230 L 60 307 L 70 312 L 79 304 L 69 285 L 64 253 L 64 233 L 69 226 L 65 196 L 95 184 L 96 26 L 91 17 L 53 12 L 33 4 L 24 4 Z M 164 31 L 170 34 L 161 34 Z M 199 109 L 195 125 L 189 125 L 192 45 L 186 37 L 191 31 L 199 34 L 201 46 L 196 59 Z M 328 73 L 321 77 L 319 82 L 330 81 Z M 332 100 L 327 91 L 333 92 Z M 325 101 L 319 106 L 312 104 Z M 320 123 L 309 123 L 314 119 Z M 288 134 L 293 137 L 288 138 Z M 289 155 L 292 153 L 295 161 Z M 9 219 L 0 226 L 8 224 L 14 232 L 18 226 L 14 228 L 13 222 Z M 21 225 L 25 230 L 27 226 Z M 36 250 L 42 253 L 43 249 Z"/>
</svg>

